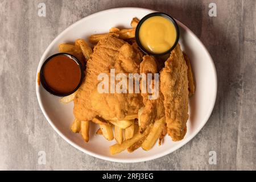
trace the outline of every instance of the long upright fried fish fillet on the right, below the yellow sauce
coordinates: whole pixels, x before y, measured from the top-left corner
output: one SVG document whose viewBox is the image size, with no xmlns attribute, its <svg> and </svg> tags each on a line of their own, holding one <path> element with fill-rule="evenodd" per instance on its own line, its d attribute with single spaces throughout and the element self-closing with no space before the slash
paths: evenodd
<svg viewBox="0 0 256 182">
<path fill-rule="evenodd" d="M 180 45 L 177 44 L 160 72 L 160 90 L 164 96 L 164 109 L 168 135 L 172 140 L 184 138 L 188 120 L 188 67 Z"/>
</svg>

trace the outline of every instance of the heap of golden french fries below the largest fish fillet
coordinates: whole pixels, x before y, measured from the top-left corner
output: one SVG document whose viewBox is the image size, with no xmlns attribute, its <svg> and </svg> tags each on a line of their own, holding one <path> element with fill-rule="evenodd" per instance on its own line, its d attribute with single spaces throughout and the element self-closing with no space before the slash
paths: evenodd
<svg viewBox="0 0 256 182">
<path fill-rule="evenodd" d="M 139 115 L 138 115 L 139 117 Z M 93 118 L 92 122 L 100 126 L 96 134 L 102 135 L 106 140 L 117 142 L 110 146 L 110 154 L 118 154 L 124 150 L 133 152 L 137 148 L 142 147 L 143 150 L 150 150 L 165 127 L 165 117 L 155 121 L 150 127 L 147 127 L 143 133 L 139 132 L 137 118 L 130 120 L 109 120 L 102 118 Z M 89 121 L 79 121 L 75 119 L 71 126 L 73 133 L 81 133 L 85 142 L 89 141 Z M 160 140 L 159 140 L 160 141 Z"/>
</svg>

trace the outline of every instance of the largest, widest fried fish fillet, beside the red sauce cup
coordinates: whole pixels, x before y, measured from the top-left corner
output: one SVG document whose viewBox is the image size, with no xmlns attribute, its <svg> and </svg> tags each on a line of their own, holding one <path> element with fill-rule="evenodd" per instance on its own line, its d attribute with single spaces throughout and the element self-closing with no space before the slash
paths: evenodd
<svg viewBox="0 0 256 182">
<path fill-rule="evenodd" d="M 86 77 L 74 100 L 75 117 L 91 121 L 96 116 L 108 120 L 137 114 L 142 106 L 140 94 L 99 93 L 97 77 L 100 73 L 109 75 L 113 68 L 116 73 L 139 72 L 140 59 L 133 47 L 123 40 L 113 36 L 101 39 L 86 64 Z"/>
</svg>

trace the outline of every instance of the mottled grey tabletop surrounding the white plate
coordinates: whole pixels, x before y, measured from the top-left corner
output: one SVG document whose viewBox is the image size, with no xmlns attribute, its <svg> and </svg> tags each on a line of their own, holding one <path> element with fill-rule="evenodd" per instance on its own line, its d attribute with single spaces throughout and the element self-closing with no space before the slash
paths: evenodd
<svg viewBox="0 0 256 182">
<path fill-rule="evenodd" d="M 38 4 L 46 4 L 46 17 Z M 208 15 L 209 3 L 217 17 Z M 57 135 L 35 93 L 36 68 L 48 44 L 77 20 L 114 7 L 163 11 L 191 28 L 212 55 L 218 74 L 213 113 L 189 143 L 144 163 L 112 163 L 86 155 Z M 256 169 L 254 0 L 0 0 L 0 169 L 197 170 Z M 46 165 L 38 152 L 46 151 Z M 217 164 L 210 165 L 209 151 Z"/>
</svg>

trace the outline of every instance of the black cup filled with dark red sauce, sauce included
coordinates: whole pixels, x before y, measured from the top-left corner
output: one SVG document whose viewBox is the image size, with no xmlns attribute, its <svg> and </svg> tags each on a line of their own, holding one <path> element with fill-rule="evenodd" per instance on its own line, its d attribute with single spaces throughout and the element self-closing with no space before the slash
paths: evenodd
<svg viewBox="0 0 256 182">
<path fill-rule="evenodd" d="M 40 69 L 40 82 L 47 92 L 64 97 L 76 92 L 82 84 L 82 64 L 68 53 L 48 57 Z"/>
</svg>

